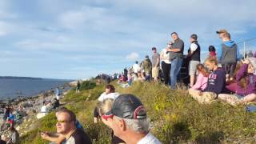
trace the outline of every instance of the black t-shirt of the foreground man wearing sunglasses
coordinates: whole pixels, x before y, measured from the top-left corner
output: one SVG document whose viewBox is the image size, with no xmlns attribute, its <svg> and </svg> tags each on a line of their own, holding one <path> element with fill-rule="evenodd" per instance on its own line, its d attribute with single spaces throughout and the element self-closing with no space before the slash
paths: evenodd
<svg viewBox="0 0 256 144">
<path fill-rule="evenodd" d="M 74 133 L 66 140 L 66 142 L 62 142 L 64 144 L 91 144 L 90 138 L 88 135 L 80 129 L 74 131 Z"/>
</svg>

